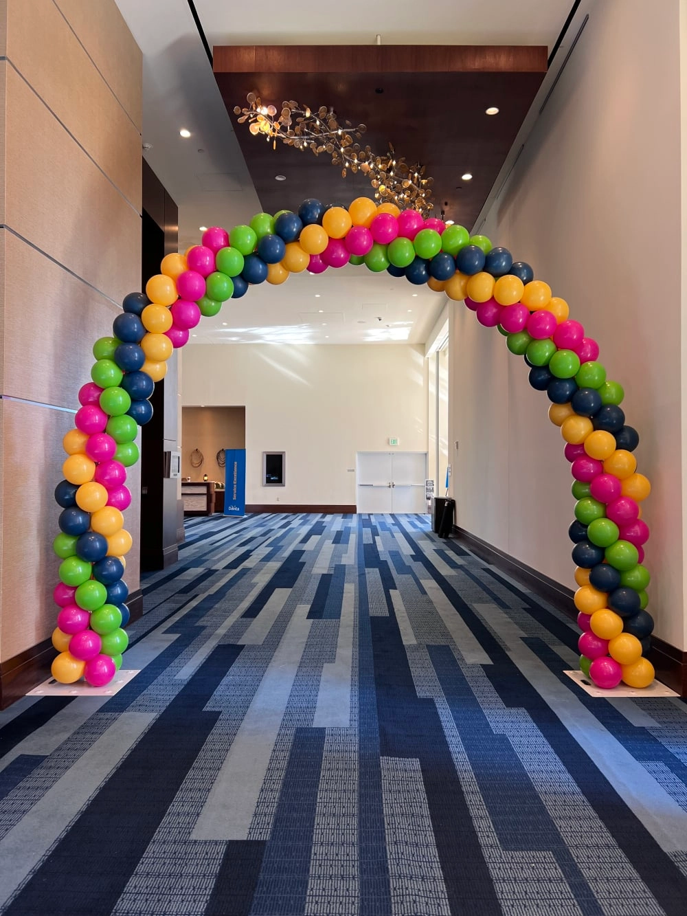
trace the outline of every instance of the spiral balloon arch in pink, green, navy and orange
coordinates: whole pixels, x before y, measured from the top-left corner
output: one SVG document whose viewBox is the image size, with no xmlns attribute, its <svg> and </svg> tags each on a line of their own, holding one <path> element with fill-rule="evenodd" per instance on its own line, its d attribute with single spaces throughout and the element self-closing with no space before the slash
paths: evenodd
<svg viewBox="0 0 687 916">
<path fill-rule="evenodd" d="M 164 258 L 145 295 L 125 297 L 113 335 L 93 345 L 92 381 L 79 391 L 82 406 L 63 440 L 68 457 L 55 490 L 61 513 L 54 551 L 61 563 L 53 677 L 103 686 L 122 664 L 129 617 L 123 576 L 132 547 L 123 516 L 131 503 L 126 468 L 138 460 L 136 432 L 152 416 L 148 398 L 174 348 L 188 342 L 202 316 L 217 314 L 251 285 L 278 286 L 291 273 L 349 263 L 463 300 L 478 322 L 498 328 L 512 354 L 524 357 L 529 384 L 551 401 L 549 417 L 561 429 L 573 472 L 569 533 L 583 630 L 580 668 L 602 688 L 621 681 L 649 686 L 653 620 L 645 610 L 649 572 L 642 565 L 649 528 L 639 503 L 650 485 L 636 470 L 638 434 L 619 406 L 623 388 L 606 380 L 598 345 L 529 264 L 463 226 L 366 197 L 348 209 L 307 200 L 298 213 L 258 213 L 230 233 L 207 229 L 201 245 Z"/>
</svg>

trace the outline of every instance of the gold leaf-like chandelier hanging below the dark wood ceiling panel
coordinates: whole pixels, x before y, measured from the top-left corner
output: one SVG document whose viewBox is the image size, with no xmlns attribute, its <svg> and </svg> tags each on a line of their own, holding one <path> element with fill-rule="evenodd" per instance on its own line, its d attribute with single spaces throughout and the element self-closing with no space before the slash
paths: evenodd
<svg viewBox="0 0 687 916">
<path fill-rule="evenodd" d="M 277 148 L 277 140 L 301 151 L 310 149 L 315 156 L 327 153 L 332 165 L 341 167 L 342 177 L 348 171 L 361 171 L 370 179 L 377 201 L 395 203 L 401 210 L 412 208 L 424 215 L 431 213 L 431 189 L 434 180 L 425 178 L 425 167 L 420 163 L 409 166 L 405 158 L 397 156 L 389 143 L 388 152 L 377 155 L 360 140 L 367 129 L 364 124 L 354 126 L 344 121 L 333 108 L 322 105 L 313 112 L 307 105 L 293 100 L 281 104 L 278 114 L 275 105 L 265 105 L 256 93 L 248 93 L 247 108 L 236 105 L 238 123 L 249 124 L 253 136 L 265 136 Z"/>
</svg>

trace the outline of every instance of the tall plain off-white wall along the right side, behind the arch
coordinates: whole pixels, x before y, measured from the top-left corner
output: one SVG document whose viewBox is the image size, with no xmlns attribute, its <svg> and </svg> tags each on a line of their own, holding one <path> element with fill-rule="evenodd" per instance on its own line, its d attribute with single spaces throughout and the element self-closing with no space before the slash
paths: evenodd
<svg viewBox="0 0 687 916">
<path fill-rule="evenodd" d="M 481 231 L 529 261 L 601 346 L 653 485 L 649 611 L 684 648 L 680 5 L 601 0 Z M 496 329 L 452 304 L 458 524 L 574 587 L 570 465 L 549 400 Z M 459 450 L 453 450 L 458 440 Z"/>
</svg>

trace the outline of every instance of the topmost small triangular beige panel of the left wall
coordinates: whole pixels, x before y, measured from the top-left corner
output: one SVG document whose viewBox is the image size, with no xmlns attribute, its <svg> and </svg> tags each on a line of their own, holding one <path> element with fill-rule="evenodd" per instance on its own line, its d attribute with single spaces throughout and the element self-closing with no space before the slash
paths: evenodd
<svg viewBox="0 0 687 916">
<path fill-rule="evenodd" d="M 11 0 L 22 5 L 26 0 Z M 143 123 L 143 56 L 114 0 L 55 0 L 138 131 Z"/>
</svg>

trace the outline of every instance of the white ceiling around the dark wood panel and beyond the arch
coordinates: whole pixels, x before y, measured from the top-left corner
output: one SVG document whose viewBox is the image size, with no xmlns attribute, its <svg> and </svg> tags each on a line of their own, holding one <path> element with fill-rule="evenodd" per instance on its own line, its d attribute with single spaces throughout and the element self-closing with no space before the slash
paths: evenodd
<svg viewBox="0 0 687 916">
<path fill-rule="evenodd" d="M 179 205 L 183 251 L 200 242 L 201 225 L 229 229 L 248 223 L 261 208 L 187 0 L 115 2 L 143 51 L 143 141 L 152 144 L 145 156 Z M 551 49 L 571 5 L 572 0 L 425 0 L 418 16 L 416 6 L 391 0 L 335 6 L 322 0 L 261 0 L 259 12 L 238 0 L 195 0 L 211 48 L 374 44 L 378 33 L 385 44 Z M 191 131 L 190 138 L 180 136 L 181 127 Z M 250 288 L 242 299 L 226 302 L 219 315 L 203 319 L 191 342 L 421 344 L 441 310 L 442 296 L 405 279 L 375 276 L 366 267 L 330 268 L 318 276 L 291 276 L 279 287 Z"/>
</svg>

